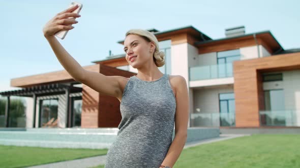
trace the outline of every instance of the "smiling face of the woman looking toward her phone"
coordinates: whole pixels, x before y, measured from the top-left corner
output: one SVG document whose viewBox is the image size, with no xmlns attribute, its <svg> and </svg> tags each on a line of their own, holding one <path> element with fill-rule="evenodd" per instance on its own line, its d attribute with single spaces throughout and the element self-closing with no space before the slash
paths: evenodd
<svg viewBox="0 0 300 168">
<path fill-rule="evenodd" d="M 129 34 L 125 38 L 125 58 L 133 68 L 141 67 L 146 62 L 153 61 L 154 50 L 155 44 L 139 35 Z"/>
</svg>

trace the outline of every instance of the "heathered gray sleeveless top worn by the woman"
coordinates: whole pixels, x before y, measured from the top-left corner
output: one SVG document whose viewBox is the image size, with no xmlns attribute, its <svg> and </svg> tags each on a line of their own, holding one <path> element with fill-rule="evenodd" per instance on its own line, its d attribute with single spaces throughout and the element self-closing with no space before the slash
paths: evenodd
<svg viewBox="0 0 300 168">
<path fill-rule="evenodd" d="M 158 168 L 172 143 L 176 100 L 169 74 L 155 81 L 131 76 L 120 104 L 122 120 L 105 168 Z"/>
</svg>

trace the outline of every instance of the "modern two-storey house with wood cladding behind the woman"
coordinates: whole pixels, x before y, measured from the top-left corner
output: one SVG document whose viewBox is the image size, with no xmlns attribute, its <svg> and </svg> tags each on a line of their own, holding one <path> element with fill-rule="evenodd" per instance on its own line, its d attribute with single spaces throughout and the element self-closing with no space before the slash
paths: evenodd
<svg viewBox="0 0 300 168">
<path fill-rule="evenodd" d="M 246 34 L 244 26 L 226 29 L 221 39 L 193 26 L 149 31 L 166 55 L 159 69 L 186 78 L 189 127 L 300 127 L 300 49 L 284 50 L 270 31 Z M 83 68 L 125 77 L 137 73 L 124 54 L 93 63 Z M 65 70 L 13 78 L 11 86 L 23 89 L 0 92 L 0 127 L 111 128 L 122 118 L 116 98 Z"/>
</svg>

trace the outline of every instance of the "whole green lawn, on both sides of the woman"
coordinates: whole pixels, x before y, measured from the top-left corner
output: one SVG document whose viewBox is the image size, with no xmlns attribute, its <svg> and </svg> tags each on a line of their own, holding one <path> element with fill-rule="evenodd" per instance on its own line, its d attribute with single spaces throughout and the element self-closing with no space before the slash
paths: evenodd
<svg viewBox="0 0 300 168">
<path fill-rule="evenodd" d="M 0 165 L 21 167 L 106 153 L 107 150 L 0 146 Z M 182 151 L 173 166 L 178 167 L 298 168 L 300 135 L 252 135 L 190 147 Z"/>
</svg>

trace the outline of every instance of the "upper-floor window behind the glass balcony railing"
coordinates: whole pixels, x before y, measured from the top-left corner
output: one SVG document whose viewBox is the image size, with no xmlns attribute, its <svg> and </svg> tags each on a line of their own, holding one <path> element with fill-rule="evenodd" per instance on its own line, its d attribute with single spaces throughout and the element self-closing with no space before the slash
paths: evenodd
<svg viewBox="0 0 300 168">
<path fill-rule="evenodd" d="M 228 50 L 217 53 L 219 77 L 226 77 L 232 74 L 232 62 L 241 59 L 239 49 Z"/>
</svg>

